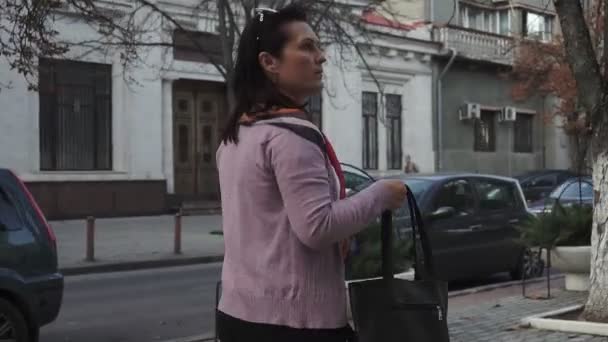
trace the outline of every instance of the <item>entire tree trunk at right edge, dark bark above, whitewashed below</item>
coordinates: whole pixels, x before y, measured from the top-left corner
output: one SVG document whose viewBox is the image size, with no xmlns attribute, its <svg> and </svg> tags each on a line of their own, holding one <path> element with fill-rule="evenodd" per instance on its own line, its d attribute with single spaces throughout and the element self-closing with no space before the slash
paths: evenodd
<svg viewBox="0 0 608 342">
<path fill-rule="evenodd" d="M 608 1 L 608 0 L 604 0 Z M 608 323 L 608 94 L 580 1 L 553 0 L 578 99 L 590 114 L 595 192 L 591 237 L 591 275 L 583 317 Z M 608 6 L 608 4 L 606 4 Z M 608 27 L 604 27 L 604 39 Z M 606 50 L 608 51 L 608 50 Z"/>
</svg>

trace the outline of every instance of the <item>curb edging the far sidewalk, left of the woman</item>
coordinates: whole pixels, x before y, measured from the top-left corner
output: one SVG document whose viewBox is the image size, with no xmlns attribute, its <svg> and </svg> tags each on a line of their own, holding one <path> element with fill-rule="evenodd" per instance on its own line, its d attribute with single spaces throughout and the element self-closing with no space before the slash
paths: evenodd
<svg viewBox="0 0 608 342">
<path fill-rule="evenodd" d="M 216 262 L 222 262 L 224 260 L 223 255 L 212 255 L 212 256 L 201 256 L 201 257 L 185 257 L 185 258 L 172 258 L 172 259 L 155 259 L 155 260 L 140 260 L 140 261 L 126 261 L 126 262 L 113 262 L 113 263 L 98 263 L 92 262 L 90 265 L 83 266 L 69 266 L 60 268 L 60 272 L 64 276 L 75 276 L 93 273 L 110 273 L 110 272 L 124 272 L 124 271 L 136 271 L 153 268 L 164 268 L 164 267 L 175 267 L 175 266 L 189 266 L 197 264 L 211 264 Z"/>
</svg>

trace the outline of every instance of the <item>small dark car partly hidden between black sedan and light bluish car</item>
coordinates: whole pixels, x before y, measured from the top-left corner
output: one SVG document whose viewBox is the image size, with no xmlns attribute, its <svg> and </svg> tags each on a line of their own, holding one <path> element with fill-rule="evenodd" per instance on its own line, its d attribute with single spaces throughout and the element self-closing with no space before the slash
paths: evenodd
<svg viewBox="0 0 608 342">
<path fill-rule="evenodd" d="M 538 170 L 515 178 L 519 181 L 526 200 L 531 203 L 547 198 L 560 184 L 576 176 L 575 172 L 569 170 Z"/>
</svg>

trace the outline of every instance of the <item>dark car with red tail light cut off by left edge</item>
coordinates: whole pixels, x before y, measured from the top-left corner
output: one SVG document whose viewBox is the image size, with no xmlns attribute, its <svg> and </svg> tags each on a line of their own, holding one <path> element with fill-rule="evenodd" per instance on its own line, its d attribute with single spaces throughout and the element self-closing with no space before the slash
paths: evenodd
<svg viewBox="0 0 608 342">
<path fill-rule="evenodd" d="M 0 341 L 37 341 L 62 298 L 53 230 L 23 182 L 0 169 Z"/>
</svg>

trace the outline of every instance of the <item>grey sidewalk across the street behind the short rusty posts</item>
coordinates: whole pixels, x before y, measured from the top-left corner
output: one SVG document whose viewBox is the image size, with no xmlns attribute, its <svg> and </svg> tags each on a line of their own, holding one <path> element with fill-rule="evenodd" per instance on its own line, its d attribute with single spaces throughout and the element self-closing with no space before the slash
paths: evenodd
<svg viewBox="0 0 608 342">
<path fill-rule="evenodd" d="M 221 230 L 219 215 L 182 217 L 181 255 L 173 254 L 173 216 L 97 219 L 94 262 L 85 261 L 85 220 L 50 223 L 68 275 L 221 261 L 224 254 L 222 236 L 210 234 Z"/>
</svg>

